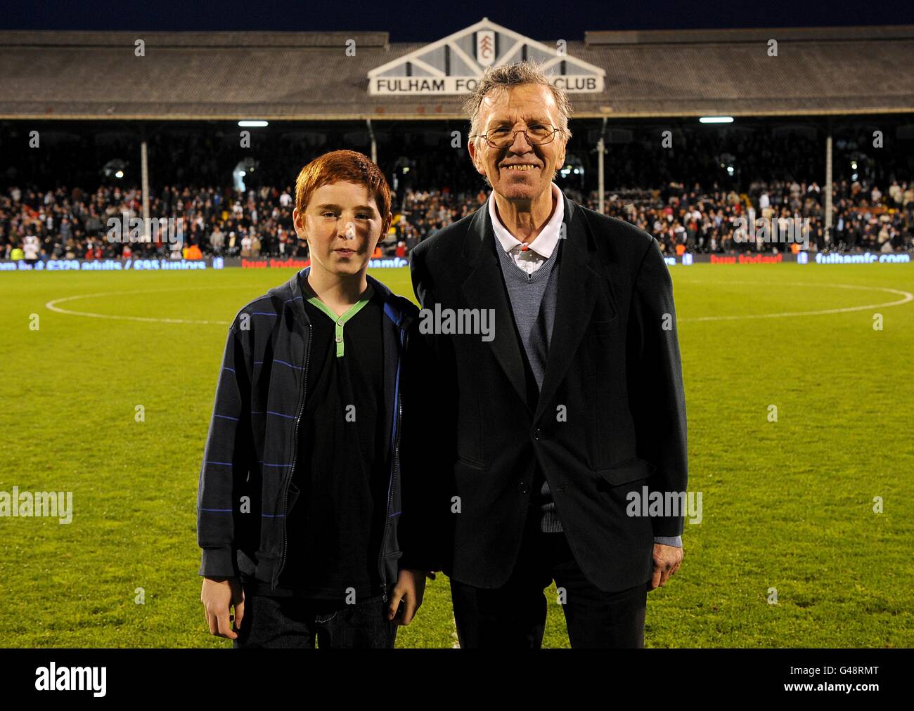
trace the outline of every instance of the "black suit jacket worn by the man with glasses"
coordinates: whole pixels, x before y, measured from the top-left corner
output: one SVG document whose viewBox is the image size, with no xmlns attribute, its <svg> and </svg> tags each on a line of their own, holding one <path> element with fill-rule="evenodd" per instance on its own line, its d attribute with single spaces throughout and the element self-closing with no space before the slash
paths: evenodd
<svg viewBox="0 0 914 711">
<path fill-rule="evenodd" d="M 404 495 L 422 497 L 425 540 L 438 547 L 441 568 L 480 588 L 505 584 L 526 516 L 538 515 L 529 505 L 535 462 L 569 547 L 600 589 L 647 582 L 654 536 L 683 530 L 682 512 L 626 514 L 630 491 L 686 489 L 685 394 L 664 258 L 643 230 L 563 199 L 555 325 L 535 402 L 488 206 L 412 252 L 424 309 L 494 309 L 491 342 L 425 336 L 425 401 L 414 399 L 412 412 L 412 424 L 425 430 L 411 430 L 411 438 L 431 447 L 409 467 L 412 476 L 423 470 L 424 492 L 404 473 Z"/>
</svg>

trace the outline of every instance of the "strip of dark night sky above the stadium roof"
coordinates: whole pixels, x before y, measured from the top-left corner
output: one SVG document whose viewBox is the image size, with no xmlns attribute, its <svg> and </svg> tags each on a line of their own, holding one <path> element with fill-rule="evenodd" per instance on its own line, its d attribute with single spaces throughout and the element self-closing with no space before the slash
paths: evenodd
<svg viewBox="0 0 914 711">
<path fill-rule="evenodd" d="M 527 37 L 582 39 L 588 29 L 815 27 L 914 24 L 914 2 L 847 0 L 607 0 L 580 2 L 275 3 L 271 0 L 4 0 L 2 29 L 94 30 L 381 30 L 391 41 L 430 41 L 484 16 Z"/>
</svg>

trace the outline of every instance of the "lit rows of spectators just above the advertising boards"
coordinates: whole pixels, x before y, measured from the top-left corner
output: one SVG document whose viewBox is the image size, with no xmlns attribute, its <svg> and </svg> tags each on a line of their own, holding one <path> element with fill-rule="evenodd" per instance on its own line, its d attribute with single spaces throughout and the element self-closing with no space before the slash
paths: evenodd
<svg viewBox="0 0 914 711">
<path fill-rule="evenodd" d="M 833 187 L 830 236 L 824 233 L 823 189 L 814 182 L 756 181 L 745 193 L 681 183 L 619 190 L 607 192 L 604 212 L 651 233 L 668 254 L 788 249 L 777 241 L 774 228 L 779 221 L 798 218 L 808 219 L 810 249 L 912 249 L 914 185 L 893 181 L 883 190 L 841 181 Z M 568 188 L 567 193 L 598 208 L 595 192 L 585 196 Z M 483 189 L 407 189 L 402 200 L 395 199 L 396 217 L 382 252 L 409 253 L 421 240 L 471 214 L 486 196 Z M 14 186 L 0 195 L 0 259 L 10 259 L 27 236 L 37 237 L 42 259 L 303 257 L 306 247 L 292 226 L 293 207 L 292 186 L 263 186 L 244 193 L 213 186 L 165 186 L 150 197 L 151 241 L 142 242 L 130 239 L 128 231 L 133 226 L 134 236 L 142 233 L 142 196 L 137 188 L 106 186 L 87 193 L 78 187 L 37 192 Z M 769 220 L 771 241 L 739 239 L 739 218 Z M 112 225 L 117 228 L 112 230 Z"/>
</svg>

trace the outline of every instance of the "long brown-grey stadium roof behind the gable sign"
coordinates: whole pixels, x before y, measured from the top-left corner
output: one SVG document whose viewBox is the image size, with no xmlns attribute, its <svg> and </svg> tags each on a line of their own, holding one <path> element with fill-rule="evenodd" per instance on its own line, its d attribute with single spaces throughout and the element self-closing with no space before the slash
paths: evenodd
<svg viewBox="0 0 914 711">
<path fill-rule="evenodd" d="M 525 57 L 557 46 L 485 19 L 428 45 L 386 32 L 5 31 L 0 118 L 463 118 L 460 94 L 371 93 L 369 73 L 442 76 L 423 52 L 448 44 L 450 73 L 473 62 L 457 45 L 490 29 L 503 52 L 508 41 Z M 600 90 L 571 95 L 579 118 L 914 112 L 914 26 L 588 32 L 567 42 L 567 59 L 562 71 L 573 62 L 602 77 Z"/>
</svg>

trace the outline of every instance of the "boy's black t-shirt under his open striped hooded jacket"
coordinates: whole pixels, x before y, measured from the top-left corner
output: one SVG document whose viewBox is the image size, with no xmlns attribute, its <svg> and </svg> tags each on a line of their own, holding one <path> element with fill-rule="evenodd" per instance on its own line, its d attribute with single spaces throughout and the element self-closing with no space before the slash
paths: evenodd
<svg viewBox="0 0 914 711">
<path fill-rule="evenodd" d="M 257 588 L 341 603 L 355 589 L 356 600 L 364 600 L 381 592 L 378 556 L 388 501 L 384 302 L 372 294 L 345 322 L 343 356 L 337 356 L 336 323 L 307 301 L 314 292 L 301 281 L 312 341 L 292 472 L 299 493 L 287 512 L 278 588 Z"/>
</svg>

